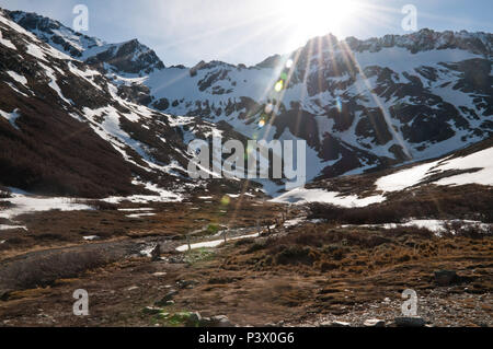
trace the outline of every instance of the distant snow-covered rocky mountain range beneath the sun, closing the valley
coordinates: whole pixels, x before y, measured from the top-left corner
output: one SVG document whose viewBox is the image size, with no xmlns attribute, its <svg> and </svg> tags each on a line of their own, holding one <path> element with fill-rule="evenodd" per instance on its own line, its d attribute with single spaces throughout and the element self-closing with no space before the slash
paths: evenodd
<svg viewBox="0 0 493 349">
<path fill-rule="evenodd" d="M 137 40 L 105 44 L 36 14 L 9 15 L 98 70 L 119 103 L 227 123 L 249 139 L 307 140 L 309 181 L 438 158 L 493 131 L 489 33 L 328 35 L 253 67 L 167 68 Z"/>
</svg>

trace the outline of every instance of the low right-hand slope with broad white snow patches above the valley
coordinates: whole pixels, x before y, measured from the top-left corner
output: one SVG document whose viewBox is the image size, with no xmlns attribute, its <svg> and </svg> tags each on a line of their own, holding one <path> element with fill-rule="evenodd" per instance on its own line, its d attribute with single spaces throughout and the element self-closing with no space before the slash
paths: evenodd
<svg viewBox="0 0 493 349">
<path fill-rule="evenodd" d="M 435 206 L 438 199 L 449 193 L 462 195 L 455 198 L 462 208 L 474 206 L 472 197 L 490 197 L 493 187 L 493 139 L 490 138 L 446 156 L 412 163 L 404 166 L 375 171 L 372 173 L 333 179 L 316 181 L 306 188 L 288 191 L 274 202 L 324 202 L 345 208 L 367 207 L 374 203 L 389 203 L 405 198 L 417 202 L 426 191 L 434 193 Z M 478 202 L 475 202 L 477 205 Z M 491 212 L 491 209 L 486 210 Z M 426 211 L 426 210 L 424 210 Z M 433 210 L 431 210 L 432 212 Z M 478 213 L 469 210 L 468 213 Z M 395 212 L 399 214 L 399 212 Z M 491 214 L 489 214 L 491 220 Z"/>
</svg>

